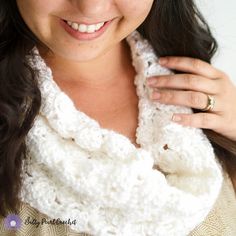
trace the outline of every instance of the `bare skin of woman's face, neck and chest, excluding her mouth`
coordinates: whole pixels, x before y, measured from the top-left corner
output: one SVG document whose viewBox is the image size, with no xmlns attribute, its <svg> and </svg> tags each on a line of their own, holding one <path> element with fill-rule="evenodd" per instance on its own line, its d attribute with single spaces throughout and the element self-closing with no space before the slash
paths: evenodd
<svg viewBox="0 0 236 236">
<path fill-rule="evenodd" d="M 154 0 L 17 0 L 31 31 L 50 51 L 38 47 L 53 79 L 75 106 L 127 136 L 133 143 L 138 122 L 135 69 L 125 38 L 143 23 Z M 74 39 L 59 19 L 98 23 L 114 19 L 97 39 Z M 39 45 L 38 45 L 39 46 Z M 127 122 L 128 121 L 128 122 Z"/>
</svg>

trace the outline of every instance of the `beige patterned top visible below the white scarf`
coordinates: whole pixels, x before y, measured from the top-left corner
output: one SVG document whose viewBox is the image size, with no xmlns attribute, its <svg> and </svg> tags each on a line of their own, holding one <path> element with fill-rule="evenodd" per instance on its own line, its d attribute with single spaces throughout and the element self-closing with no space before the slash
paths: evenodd
<svg viewBox="0 0 236 236">
<path fill-rule="evenodd" d="M 68 225 L 39 224 L 26 225 L 25 220 L 30 217 L 41 222 L 46 215 L 38 212 L 26 203 L 20 208 L 21 228 L 17 231 L 7 230 L 4 226 L 4 219 L 0 218 L 1 236 L 90 236 L 85 233 L 77 233 Z M 73 219 L 71 219 L 72 221 Z M 79 222 L 77 222 L 79 224 Z M 208 214 L 206 220 L 196 227 L 188 236 L 235 236 L 236 235 L 236 195 L 228 175 L 225 174 L 224 182 L 218 199 Z M 125 235 L 124 235 L 125 236 Z M 184 236 L 184 235 L 183 235 Z"/>
</svg>

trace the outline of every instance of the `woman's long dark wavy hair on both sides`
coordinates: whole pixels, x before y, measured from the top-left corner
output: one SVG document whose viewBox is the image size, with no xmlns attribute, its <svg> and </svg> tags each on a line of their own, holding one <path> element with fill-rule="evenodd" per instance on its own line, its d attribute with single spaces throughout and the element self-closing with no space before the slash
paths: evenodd
<svg viewBox="0 0 236 236">
<path fill-rule="evenodd" d="M 158 0 L 137 29 L 158 56 L 189 56 L 211 61 L 217 42 L 193 0 Z M 0 0 L 0 215 L 18 212 L 25 137 L 41 106 L 36 74 L 28 64 L 35 45 L 43 45 L 24 23 L 16 0 Z M 178 73 L 178 71 L 176 71 Z M 27 106 L 26 106 L 27 104 Z M 194 112 L 199 112 L 194 110 Z M 203 130 L 232 180 L 236 144 Z M 236 187 L 236 183 L 234 186 Z"/>
</svg>

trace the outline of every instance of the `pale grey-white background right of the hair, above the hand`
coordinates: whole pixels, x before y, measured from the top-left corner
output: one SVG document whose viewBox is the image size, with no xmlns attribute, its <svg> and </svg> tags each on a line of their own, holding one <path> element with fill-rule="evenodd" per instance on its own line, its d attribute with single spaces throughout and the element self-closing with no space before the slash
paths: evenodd
<svg viewBox="0 0 236 236">
<path fill-rule="evenodd" d="M 219 43 L 212 64 L 236 85 L 236 0 L 196 0 Z"/>
</svg>

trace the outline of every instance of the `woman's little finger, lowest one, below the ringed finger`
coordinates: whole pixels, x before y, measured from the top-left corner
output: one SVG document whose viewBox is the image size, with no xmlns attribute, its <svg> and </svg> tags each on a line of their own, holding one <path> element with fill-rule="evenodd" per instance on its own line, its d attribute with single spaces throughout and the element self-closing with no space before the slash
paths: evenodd
<svg viewBox="0 0 236 236">
<path fill-rule="evenodd" d="M 179 119 L 178 119 L 179 118 Z M 190 126 L 202 129 L 217 130 L 222 126 L 222 117 L 213 113 L 193 113 L 193 114 L 174 114 L 172 121 L 182 124 L 184 126 Z"/>
</svg>

